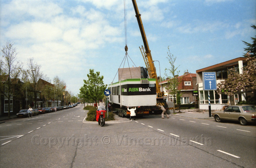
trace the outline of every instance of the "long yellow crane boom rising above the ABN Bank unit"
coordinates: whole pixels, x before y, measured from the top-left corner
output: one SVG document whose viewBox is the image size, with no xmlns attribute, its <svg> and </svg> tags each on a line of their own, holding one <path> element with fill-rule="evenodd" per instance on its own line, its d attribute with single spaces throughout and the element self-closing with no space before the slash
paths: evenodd
<svg viewBox="0 0 256 168">
<path fill-rule="evenodd" d="M 142 40 L 143 40 L 143 43 L 144 43 L 144 46 L 145 46 L 144 48 L 143 47 L 140 48 L 140 50 L 142 52 L 145 64 L 148 68 L 148 74 L 149 74 L 150 78 L 155 78 L 156 79 L 157 97 L 161 98 L 163 96 L 163 93 L 160 90 L 160 85 L 158 83 L 158 79 L 157 79 L 157 75 L 156 75 L 156 68 L 155 68 L 154 61 L 153 61 L 152 56 L 151 56 L 151 51 L 150 51 L 149 46 L 148 46 L 148 41 L 147 41 L 147 38 L 146 38 L 146 34 L 145 34 L 145 31 L 144 31 L 144 27 L 143 27 L 143 24 L 142 24 L 142 20 L 141 20 L 141 17 L 140 17 L 140 13 L 139 13 L 139 10 L 138 10 L 136 0 L 132 0 L 132 4 L 134 6 L 136 18 L 137 18 L 137 21 L 138 21 L 138 25 L 140 27 L 140 33 L 141 33 Z M 144 50 L 145 50 L 145 52 L 144 52 Z"/>
</svg>

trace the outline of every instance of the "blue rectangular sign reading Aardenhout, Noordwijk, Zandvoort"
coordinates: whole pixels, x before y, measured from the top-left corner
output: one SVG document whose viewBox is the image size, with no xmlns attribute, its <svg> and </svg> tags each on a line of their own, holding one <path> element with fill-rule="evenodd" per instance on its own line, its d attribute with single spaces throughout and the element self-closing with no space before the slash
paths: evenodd
<svg viewBox="0 0 256 168">
<path fill-rule="evenodd" d="M 216 72 L 203 72 L 203 90 L 217 90 Z"/>
</svg>

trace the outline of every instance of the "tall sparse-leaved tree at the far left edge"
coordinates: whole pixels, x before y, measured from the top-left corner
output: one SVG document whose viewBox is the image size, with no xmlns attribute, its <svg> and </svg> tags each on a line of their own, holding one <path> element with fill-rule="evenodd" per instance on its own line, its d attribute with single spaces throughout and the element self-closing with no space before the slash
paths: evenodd
<svg viewBox="0 0 256 168">
<path fill-rule="evenodd" d="M 6 42 L 6 45 L 3 46 L 2 49 L 2 59 L 0 66 L 0 75 L 5 74 L 5 81 L 3 81 L 3 77 L 1 77 L 1 93 L 8 99 L 8 117 L 10 117 L 10 111 L 12 111 L 12 106 L 10 105 L 11 99 L 14 98 L 15 95 L 15 83 L 19 80 L 20 71 L 22 70 L 22 64 L 19 61 L 16 61 L 16 48 L 14 48 L 14 43 Z"/>
</svg>

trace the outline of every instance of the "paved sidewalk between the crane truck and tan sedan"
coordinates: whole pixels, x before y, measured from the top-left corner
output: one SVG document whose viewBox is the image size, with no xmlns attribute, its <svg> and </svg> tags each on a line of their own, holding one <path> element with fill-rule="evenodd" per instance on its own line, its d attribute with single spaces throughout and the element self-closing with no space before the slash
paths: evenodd
<svg viewBox="0 0 256 168">
<path fill-rule="evenodd" d="M 197 119 L 214 119 L 214 117 L 209 117 L 209 111 L 208 110 L 202 110 L 202 109 L 184 109 L 180 110 L 180 113 L 178 113 L 178 110 L 175 110 L 176 114 L 170 113 L 169 115 L 173 116 L 180 116 L 180 117 L 189 117 L 189 118 L 197 118 Z"/>
</svg>

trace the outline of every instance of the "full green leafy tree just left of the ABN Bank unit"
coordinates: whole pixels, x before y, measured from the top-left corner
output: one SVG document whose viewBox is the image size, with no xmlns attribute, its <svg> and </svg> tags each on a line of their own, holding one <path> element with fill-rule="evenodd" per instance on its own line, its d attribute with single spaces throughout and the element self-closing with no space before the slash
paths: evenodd
<svg viewBox="0 0 256 168">
<path fill-rule="evenodd" d="M 88 99 L 97 103 L 97 100 L 104 98 L 104 90 L 107 85 L 103 83 L 103 76 L 100 76 L 100 72 L 94 73 L 94 69 L 90 69 L 90 73 L 87 74 L 88 80 L 84 80 L 84 89 L 86 90 Z M 81 91 L 81 90 L 80 90 Z"/>
</svg>

